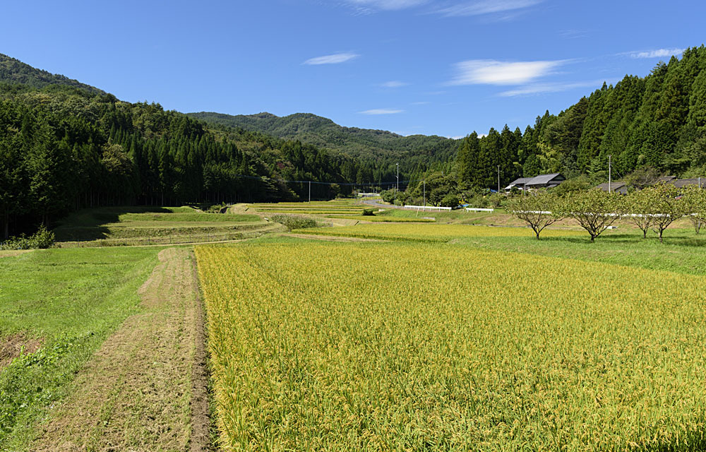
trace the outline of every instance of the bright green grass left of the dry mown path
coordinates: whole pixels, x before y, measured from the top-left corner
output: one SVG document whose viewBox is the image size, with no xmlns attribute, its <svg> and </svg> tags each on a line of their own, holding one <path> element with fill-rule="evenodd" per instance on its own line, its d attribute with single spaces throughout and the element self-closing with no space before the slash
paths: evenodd
<svg viewBox="0 0 706 452">
<path fill-rule="evenodd" d="M 157 249 L 49 249 L 0 259 L 0 338 L 42 348 L 0 371 L 0 450 L 16 450 L 76 372 L 138 309 Z"/>
</svg>

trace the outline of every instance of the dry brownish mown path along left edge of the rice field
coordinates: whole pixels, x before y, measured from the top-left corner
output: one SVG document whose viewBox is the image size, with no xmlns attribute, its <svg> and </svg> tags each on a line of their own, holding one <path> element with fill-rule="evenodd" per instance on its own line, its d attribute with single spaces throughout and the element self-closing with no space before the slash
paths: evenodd
<svg viewBox="0 0 706 452">
<path fill-rule="evenodd" d="M 206 451 L 203 310 L 188 249 L 164 249 L 126 319 L 76 378 L 32 451 Z"/>
</svg>

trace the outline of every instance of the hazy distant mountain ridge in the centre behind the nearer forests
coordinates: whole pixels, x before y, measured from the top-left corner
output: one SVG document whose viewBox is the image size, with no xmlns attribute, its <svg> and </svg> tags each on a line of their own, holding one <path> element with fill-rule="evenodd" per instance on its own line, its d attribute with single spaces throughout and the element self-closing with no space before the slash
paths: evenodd
<svg viewBox="0 0 706 452">
<path fill-rule="evenodd" d="M 453 155 L 457 141 L 441 136 L 412 135 L 345 127 L 311 113 L 295 113 L 285 117 L 262 112 L 230 115 L 215 112 L 187 113 L 210 124 L 239 127 L 247 131 L 267 133 L 277 138 L 299 140 L 320 148 L 337 150 L 352 157 L 389 156 L 390 153 L 436 153 Z"/>
</svg>

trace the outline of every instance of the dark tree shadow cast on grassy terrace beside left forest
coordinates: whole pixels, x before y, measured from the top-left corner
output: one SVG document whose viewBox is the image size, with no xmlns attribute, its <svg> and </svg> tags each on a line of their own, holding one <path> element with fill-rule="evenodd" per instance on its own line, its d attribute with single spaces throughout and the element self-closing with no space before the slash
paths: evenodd
<svg viewBox="0 0 706 452">
<path fill-rule="evenodd" d="M 109 229 L 103 227 L 119 222 L 125 213 L 172 213 L 172 210 L 159 206 L 116 206 L 87 208 L 71 213 L 54 228 L 57 242 L 85 242 L 106 239 Z"/>
</svg>

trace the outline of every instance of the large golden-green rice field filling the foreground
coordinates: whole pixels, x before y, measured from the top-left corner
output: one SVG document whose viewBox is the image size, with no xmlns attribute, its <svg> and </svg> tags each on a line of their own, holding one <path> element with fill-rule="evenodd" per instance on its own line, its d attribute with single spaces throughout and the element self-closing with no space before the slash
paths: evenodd
<svg viewBox="0 0 706 452">
<path fill-rule="evenodd" d="M 196 256 L 227 451 L 706 447 L 702 277 L 420 242 Z"/>
</svg>

